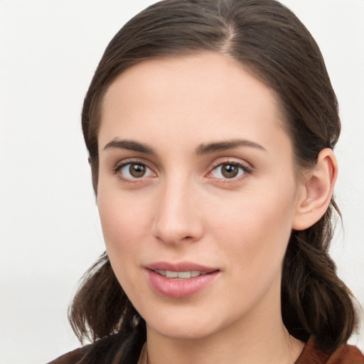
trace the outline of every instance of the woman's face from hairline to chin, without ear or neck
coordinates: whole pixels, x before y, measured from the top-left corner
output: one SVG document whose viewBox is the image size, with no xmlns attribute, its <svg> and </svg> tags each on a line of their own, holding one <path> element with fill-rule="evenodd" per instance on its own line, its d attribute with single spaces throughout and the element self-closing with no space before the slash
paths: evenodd
<svg viewBox="0 0 364 364">
<path fill-rule="evenodd" d="M 274 93 L 214 53 L 148 60 L 107 90 L 97 204 L 149 331 L 201 338 L 280 314 L 301 186 Z"/>
</svg>

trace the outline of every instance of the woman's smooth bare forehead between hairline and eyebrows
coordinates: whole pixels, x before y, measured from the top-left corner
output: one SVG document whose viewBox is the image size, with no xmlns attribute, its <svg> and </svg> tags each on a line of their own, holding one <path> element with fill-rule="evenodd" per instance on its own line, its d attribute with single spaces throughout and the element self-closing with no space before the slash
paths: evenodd
<svg viewBox="0 0 364 364">
<path fill-rule="evenodd" d="M 105 93 L 99 137 L 100 144 L 136 133 L 195 144 L 200 134 L 267 139 L 283 132 L 282 120 L 274 92 L 243 65 L 201 53 L 146 60 L 122 73 Z"/>
</svg>

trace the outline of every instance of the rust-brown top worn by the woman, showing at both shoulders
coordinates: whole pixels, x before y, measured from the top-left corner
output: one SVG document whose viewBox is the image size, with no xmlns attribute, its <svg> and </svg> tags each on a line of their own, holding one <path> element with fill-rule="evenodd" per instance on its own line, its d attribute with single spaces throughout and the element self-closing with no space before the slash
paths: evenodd
<svg viewBox="0 0 364 364">
<path fill-rule="evenodd" d="M 88 350 L 87 350 L 88 351 Z M 79 348 L 71 351 L 48 364 L 83 364 L 86 351 Z M 116 358 L 115 358 L 116 359 Z M 119 363 L 119 360 L 112 360 Z M 99 363 L 99 362 L 96 362 Z M 101 364 L 102 362 L 100 362 Z M 144 344 L 137 364 L 147 364 L 146 345 Z M 358 348 L 350 345 L 342 345 L 333 353 L 325 353 L 316 347 L 313 338 L 304 346 L 301 355 L 294 364 L 364 364 L 364 356 Z"/>
</svg>

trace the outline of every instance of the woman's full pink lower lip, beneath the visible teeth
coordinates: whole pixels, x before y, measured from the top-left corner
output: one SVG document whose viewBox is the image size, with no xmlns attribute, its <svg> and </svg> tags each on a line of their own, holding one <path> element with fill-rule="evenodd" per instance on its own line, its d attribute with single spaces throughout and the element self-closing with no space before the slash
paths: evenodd
<svg viewBox="0 0 364 364">
<path fill-rule="evenodd" d="M 188 279 L 173 279 L 161 276 L 150 269 L 147 270 L 151 287 L 162 296 L 181 299 L 202 291 L 208 284 L 218 277 L 219 271 L 203 274 Z"/>
</svg>

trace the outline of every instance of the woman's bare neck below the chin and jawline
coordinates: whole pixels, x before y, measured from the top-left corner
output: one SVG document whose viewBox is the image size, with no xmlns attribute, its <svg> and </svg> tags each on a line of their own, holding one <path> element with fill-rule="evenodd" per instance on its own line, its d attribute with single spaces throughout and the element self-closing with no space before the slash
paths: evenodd
<svg viewBox="0 0 364 364">
<path fill-rule="evenodd" d="M 203 338 L 166 337 L 147 326 L 148 364 L 293 364 L 304 343 L 289 336 L 274 301 Z"/>
</svg>

